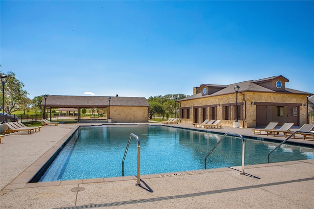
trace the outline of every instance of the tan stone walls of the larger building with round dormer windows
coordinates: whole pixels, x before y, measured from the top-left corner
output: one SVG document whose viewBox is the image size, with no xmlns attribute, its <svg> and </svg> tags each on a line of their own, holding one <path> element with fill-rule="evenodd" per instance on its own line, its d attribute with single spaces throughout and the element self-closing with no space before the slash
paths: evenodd
<svg viewBox="0 0 314 209">
<path fill-rule="evenodd" d="M 220 124 L 223 126 L 233 126 L 233 120 L 222 120 L 222 105 L 221 104 L 228 104 L 228 103 L 235 103 L 236 94 L 226 94 L 226 95 L 219 95 L 219 96 L 209 96 L 203 97 L 199 99 L 193 100 L 186 100 L 180 101 L 181 108 L 184 107 L 191 107 L 190 109 L 190 118 L 182 118 L 180 121 L 183 123 L 193 123 L 194 118 L 194 107 L 197 106 L 208 106 L 208 105 L 217 105 L 217 119 L 220 119 Z M 246 102 L 245 102 L 246 101 Z M 240 121 L 240 127 L 256 127 L 256 105 L 251 104 L 256 102 L 267 102 L 267 103 L 297 103 L 302 104 L 299 108 L 299 125 L 302 126 L 306 123 L 307 119 L 307 110 L 303 107 L 303 104 L 307 103 L 307 95 L 301 94 L 293 94 L 293 93 L 258 93 L 258 92 L 244 92 L 238 93 L 238 103 L 244 102 L 243 105 L 243 120 Z M 219 106 L 218 106 L 219 105 Z M 272 106 L 270 111 L 267 111 L 268 119 L 269 120 L 278 120 L 277 117 L 277 110 Z M 284 108 L 284 115 L 288 114 L 287 106 Z M 271 119 L 270 119 L 271 118 Z M 280 118 L 283 122 L 287 118 L 281 117 Z M 274 122 L 269 121 L 269 122 Z M 267 121 L 268 122 L 268 121 Z"/>
</svg>

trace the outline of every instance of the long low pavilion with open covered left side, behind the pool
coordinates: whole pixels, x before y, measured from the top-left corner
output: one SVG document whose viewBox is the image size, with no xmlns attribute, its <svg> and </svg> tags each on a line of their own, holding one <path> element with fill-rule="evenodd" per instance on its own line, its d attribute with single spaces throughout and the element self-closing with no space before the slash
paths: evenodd
<svg viewBox="0 0 314 209">
<path fill-rule="evenodd" d="M 80 110 L 86 108 L 104 110 L 112 122 L 148 122 L 149 104 L 144 97 L 48 95 L 41 105 L 50 112 L 53 108 L 75 108 L 78 121 L 81 120 Z"/>
</svg>

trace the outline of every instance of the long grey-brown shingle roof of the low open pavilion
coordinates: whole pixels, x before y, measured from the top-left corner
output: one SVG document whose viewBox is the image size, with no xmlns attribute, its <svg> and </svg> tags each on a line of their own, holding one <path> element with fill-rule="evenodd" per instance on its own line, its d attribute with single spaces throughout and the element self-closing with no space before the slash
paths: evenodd
<svg viewBox="0 0 314 209">
<path fill-rule="evenodd" d="M 45 105 L 45 99 L 41 102 Z M 47 107 L 107 107 L 108 96 L 60 96 L 48 95 Z M 110 106 L 149 106 L 144 97 L 111 96 Z"/>
</svg>

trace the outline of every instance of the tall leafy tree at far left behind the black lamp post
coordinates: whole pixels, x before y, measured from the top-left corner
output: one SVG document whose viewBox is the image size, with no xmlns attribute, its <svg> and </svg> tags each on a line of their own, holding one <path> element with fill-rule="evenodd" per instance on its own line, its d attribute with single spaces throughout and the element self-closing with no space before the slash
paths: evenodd
<svg viewBox="0 0 314 209">
<path fill-rule="evenodd" d="M 12 112 L 22 110 L 22 99 L 27 98 L 28 93 L 23 89 L 24 83 L 16 78 L 14 72 L 8 71 L 6 75 L 8 76 L 8 79 L 4 86 L 4 109 L 6 113 L 12 114 Z"/>
</svg>

